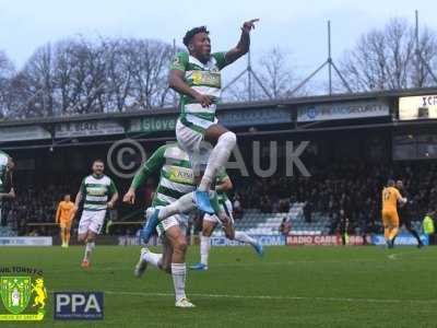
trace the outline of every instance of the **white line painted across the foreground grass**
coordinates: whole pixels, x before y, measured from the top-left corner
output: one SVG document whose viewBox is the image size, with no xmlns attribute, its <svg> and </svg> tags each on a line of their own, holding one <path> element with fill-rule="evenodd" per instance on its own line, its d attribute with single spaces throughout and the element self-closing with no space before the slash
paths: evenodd
<svg viewBox="0 0 437 328">
<path fill-rule="evenodd" d="M 173 293 L 145 293 L 105 291 L 109 295 L 132 295 L 132 296 L 174 296 Z M 378 298 L 352 298 L 352 297 L 307 297 L 307 296 L 275 296 L 275 295 L 233 295 L 233 294 L 202 294 L 190 293 L 190 296 L 205 298 L 243 298 L 243 300 L 275 300 L 275 301 L 319 301 L 319 302 L 346 302 L 346 303 L 437 303 L 437 300 L 378 300 Z"/>
</svg>

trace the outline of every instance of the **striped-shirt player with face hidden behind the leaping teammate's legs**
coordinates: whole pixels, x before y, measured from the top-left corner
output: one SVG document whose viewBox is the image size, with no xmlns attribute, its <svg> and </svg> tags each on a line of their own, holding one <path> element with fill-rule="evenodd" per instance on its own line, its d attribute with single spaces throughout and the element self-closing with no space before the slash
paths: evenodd
<svg viewBox="0 0 437 328">
<path fill-rule="evenodd" d="M 153 198 L 152 207 L 146 210 L 146 216 L 153 214 L 156 209 L 167 204 L 175 206 L 181 197 L 194 198 L 194 174 L 188 154 L 176 143 L 172 143 L 158 148 L 141 166 L 133 177 L 132 184 L 123 197 L 123 201 L 134 203 L 135 190 L 151 174 L 158 169 L 161 169 L 160 184 Z M 161 270 L 172 273 L 176 294 L 176 307 L 194 306 L 185 293 L 187 276 L 187 239 L 185 232 L 188 225 L 188 215 L 185 213 L 196 208 L 191 206 L 193 203 L 193 200 L 190 201 L 182 209 L 181 213 L 173 214 L 158 223 L 156 230 L 163 241 L 163 254 L 152 253 L 146 247 L 142 248 L 134 270 L 135 276 L 141 277 L 147 263 L 151 263 Z M 216 198 L 213 201 L 213 206 L 218 210 Z M 217 212 L 217 215 L 223 221 L 229 220 L 225 212 Z"/>
</svg>

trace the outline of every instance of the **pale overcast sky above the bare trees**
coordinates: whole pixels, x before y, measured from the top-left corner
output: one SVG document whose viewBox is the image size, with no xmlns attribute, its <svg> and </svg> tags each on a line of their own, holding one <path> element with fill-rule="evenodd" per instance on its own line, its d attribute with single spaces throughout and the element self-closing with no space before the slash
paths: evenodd
<svg viewBox="0 0 437 328">
<path fill-rule="evenodd" d="M 437 1 L 432 0 L 0 0 L 0 49 L 20 68 L 47 42 L 74 35 L 156 38 L 172 43 L 192 26 L 208 25 L 213 50 L 226 50 L 238 39 L 245 20 L 259 17 L 252 54 L 280 46 L 299 72 L 309 73 L 326 59 L 326 23 L 332 22 L 333 58 L 358 36 L 393 16 L 437 30 Z M 234 72 L 240 67 L 234 68 Z"/>
</svg>

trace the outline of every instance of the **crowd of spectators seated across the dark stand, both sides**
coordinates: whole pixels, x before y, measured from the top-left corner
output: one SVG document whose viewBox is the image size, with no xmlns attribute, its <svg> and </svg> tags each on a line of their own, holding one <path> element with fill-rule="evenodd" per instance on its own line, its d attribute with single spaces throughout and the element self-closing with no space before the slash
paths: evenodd
<svg viewBox="0 0 437 328">
<path fill-rule="evenodd" d="M 311 173 L 310 177 L 285 176 L 284 172 L 279 172 L 271 178 L 259 178 L 253 174 L 250 177 L 233 176 L 236 186 L 234 216 L 241 218 L 245 209 L 258 209 L 262 213 L 286 213 L 294 203 L 304 202 L 305 220 L 314 221 L 315 213 L 329 218 L 332 234 L 339 227 L 341 211 L 349 218 L 351 232 L 380 233 L 380 190 L 389 176 L 404 179 L 410 194 L 413 221 L 424 218 L 429 207 L 435 210 L 437 203 L 435 162 L 371 164 L 336 161 L 323 166 L 308 166 L 308 171 Z M 16 198 L 5 202 L 2 210 L 7 223 L 16 229 L 20 235 L 26 233 L 27 223 L 51 222 L 59 201 L 56 196 L 75 192 L 79 186 L 79 183 L 71 183 L 72 178 L 67 179 L 66 175 L 52 175 L 47 179 L 50 184 L 15 180 Z M 143 220 L 143 208 L 153 197 L 153 190 L 151 183 L 144 190 L 145 196 L 139 198 L 143 203 L 138 204 L 137 213 L 132 213 L 132 208 L 119 204 L 119 220 Z M 117 227 L 115 232 L 122 233 L 127 229 L 131 226 Z M 47 230 L 47 233 L 50 231 Z M 52 233 L 57 233 L 57 230 L 52 230 Z"/>
</svg>

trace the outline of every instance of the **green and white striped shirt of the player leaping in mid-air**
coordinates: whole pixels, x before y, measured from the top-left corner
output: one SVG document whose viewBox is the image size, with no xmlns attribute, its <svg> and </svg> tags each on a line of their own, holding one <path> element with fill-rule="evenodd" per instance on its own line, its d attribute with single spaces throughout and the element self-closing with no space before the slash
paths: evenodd
<svg viewBox="0 0 437 328">
<path fill-rule="evenodd" d="M 226 52 L 211 54 L 206 63 L 202 63 L 187 52 L 178 52 L 170 66 L 172 70 L 185 72 L 185 82 L 200 94 L 210 95 L 214 104 L 203 108 L 194 98 L 188 95 L 180 96 L 180 121 L 187 127 L 203 132 L 216 122 L 216 104 L 222 96 L 221 70 L 226 67 Z"/>
</svg>

